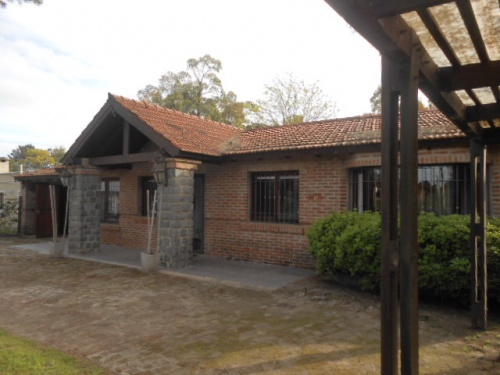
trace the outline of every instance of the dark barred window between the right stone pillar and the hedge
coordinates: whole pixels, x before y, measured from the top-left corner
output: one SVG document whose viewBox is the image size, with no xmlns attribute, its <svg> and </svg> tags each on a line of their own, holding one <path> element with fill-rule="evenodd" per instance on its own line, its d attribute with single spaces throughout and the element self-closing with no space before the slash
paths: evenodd
<svg viewBox="0 0 500 375">
<path fill-rule="evenodd" d="M 253 221 L 298 224 L 299 172 L 260 172 L 251 174 Z"/>
</svg>

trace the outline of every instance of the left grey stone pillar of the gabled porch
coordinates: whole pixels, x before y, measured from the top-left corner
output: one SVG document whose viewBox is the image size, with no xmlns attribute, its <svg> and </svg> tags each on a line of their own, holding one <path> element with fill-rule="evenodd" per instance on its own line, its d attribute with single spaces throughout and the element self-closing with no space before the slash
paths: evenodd
<svg viewBox="0 0 500 375">
<path fill-rule="evenodd" d="M 73 254 L 98 252 L 101 245 L 99 169 L 75 167 L 69 185 L 68 250 Z"/>
</svg>

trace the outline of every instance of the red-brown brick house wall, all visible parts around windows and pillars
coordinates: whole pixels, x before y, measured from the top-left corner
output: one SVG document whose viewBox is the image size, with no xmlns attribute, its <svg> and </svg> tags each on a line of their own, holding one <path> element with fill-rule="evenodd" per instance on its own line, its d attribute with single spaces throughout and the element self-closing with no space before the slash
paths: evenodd
<svg viewBox="0 0 500 375">
<path fill-rule="evenodd" d="M 500 149 L 490 148 L 488 170 L 490 214 L 500 215 Z M 466 147 L 422 149 L 420 164 L 468 163 Z M 312 222 L 348 205 L 348 170 L 379 166 L 380 153 L 341 156 L 289 157 L 204 164 L 205 253 L 228 259 L 312 268 L 305 233 Z M 147 246 L 147 218 L 140 214 L 140 178 L 151 176 L 152 165 L 132 170 L 104 171 L 102 177 L 120 177 L 121 216 L 118 225 L 102 224 L 103 243 L 129 248 Z M 299 171 L 299 224 L 257 223 L 249 220 L 251 172 Z M 156 231 L 153 245 L 156 244 Z"/>
</svg>

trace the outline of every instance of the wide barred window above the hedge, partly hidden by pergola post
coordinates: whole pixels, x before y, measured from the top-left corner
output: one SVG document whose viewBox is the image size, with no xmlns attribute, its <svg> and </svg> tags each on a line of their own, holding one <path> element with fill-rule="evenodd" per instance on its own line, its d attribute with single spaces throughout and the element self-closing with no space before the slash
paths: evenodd
<svg viewBox="0 0 500 375">
<path fill-rule="evenodd" d="M 428 165 L 418 168 L 418 207 L 420 212 L 437 215 L 469 214 L 468 164 Z M 380 211 L 380 168 L 357 168 L 349 173 L 349 208 Z"/>
</svg>

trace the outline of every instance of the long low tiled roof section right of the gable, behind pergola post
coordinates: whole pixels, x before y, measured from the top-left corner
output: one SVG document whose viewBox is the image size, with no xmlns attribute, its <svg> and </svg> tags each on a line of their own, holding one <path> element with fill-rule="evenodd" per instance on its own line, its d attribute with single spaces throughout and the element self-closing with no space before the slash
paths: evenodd
<svg viewBox="0 0 500 375">
<path fill-rule="evenodd" d="M 297 125 L 259 128 L 238 134 L 220 146 L 223 154 L 357 146 L 381 141 L 381 115 L 365 115 Z M 419 139 L 463 138 L 465 134 L 438 110 L 419 113 Z"/>
</svg>

